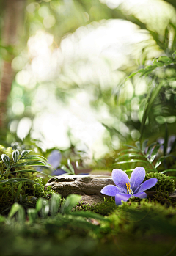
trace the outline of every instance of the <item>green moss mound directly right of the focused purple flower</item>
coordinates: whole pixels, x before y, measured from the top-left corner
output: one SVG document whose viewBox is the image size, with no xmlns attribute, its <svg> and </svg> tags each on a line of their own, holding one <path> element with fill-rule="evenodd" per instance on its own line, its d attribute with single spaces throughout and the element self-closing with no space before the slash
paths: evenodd
<svg viewBox="0 0 176 256">
<path fill-rule="evenodd" d="M 158 182 L 153 188 L 148 189 L 150 191 L 167 191 L 169 193 L 175 191 L 175 183 L 172 178 L 161 174 L 159 172 L 149 172 L 145 175 L 144 180 L 149 180 L 150 178 L 157 178 Z"/>
</svg>

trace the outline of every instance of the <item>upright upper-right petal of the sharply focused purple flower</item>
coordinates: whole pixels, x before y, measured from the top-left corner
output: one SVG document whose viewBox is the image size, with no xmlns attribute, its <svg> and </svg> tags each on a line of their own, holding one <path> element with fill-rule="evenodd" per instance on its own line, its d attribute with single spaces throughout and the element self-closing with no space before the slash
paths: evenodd
<svg viewBox="0 0 176 256">
<path fill-rule="evenodd" d="M 144 181 L 145 169 L 143 167 L 136 167 L 131 173 L 130 183 L 131 189 L 135 192 L 141 183 Z"/>
</svg>

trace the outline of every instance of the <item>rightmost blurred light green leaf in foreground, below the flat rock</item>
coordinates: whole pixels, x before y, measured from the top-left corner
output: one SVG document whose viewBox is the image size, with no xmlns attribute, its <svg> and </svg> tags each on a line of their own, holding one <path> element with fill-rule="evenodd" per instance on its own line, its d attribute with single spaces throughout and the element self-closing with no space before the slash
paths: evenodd
<svg viewBox="0 0 176 256">
<path fill-rule="evenodd" d="M 78 204 L 78 202 L 81 200 L 81 196 L 78 194 L 70 194 L 66 200 L 64 205 L 62 205 L 61 213 L 70 213 L 70 211 L 73 209 L 74 206 Z"/>
</svg>

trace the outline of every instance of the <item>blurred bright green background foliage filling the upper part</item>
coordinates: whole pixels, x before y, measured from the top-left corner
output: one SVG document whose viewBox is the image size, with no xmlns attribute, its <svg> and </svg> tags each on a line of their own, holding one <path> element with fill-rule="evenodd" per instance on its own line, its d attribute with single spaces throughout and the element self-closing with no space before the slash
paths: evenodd
<svg viewBox="0 0 176 256">
<path fill-rule="evenodd" d="M 172 0 L 0 0 L 1 144 L 89 162 L 164 137 L 166 124 L 174 135 L 175 8 Z"/>
</svg>

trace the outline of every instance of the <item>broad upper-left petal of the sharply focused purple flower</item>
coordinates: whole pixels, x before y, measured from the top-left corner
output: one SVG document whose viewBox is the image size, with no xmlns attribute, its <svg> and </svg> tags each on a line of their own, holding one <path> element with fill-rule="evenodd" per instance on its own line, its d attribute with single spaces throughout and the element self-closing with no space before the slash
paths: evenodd
<svg viewBox="0 0 176 256">
<path fill-rule="evenodd" d="M 128 175 L 122 171 L 122 169 L 113 169 L 112 179 L 114 183 L 120 188 L 123 193 L 127 193 L 126 183 L 130 182 Z"/>
</svg>

